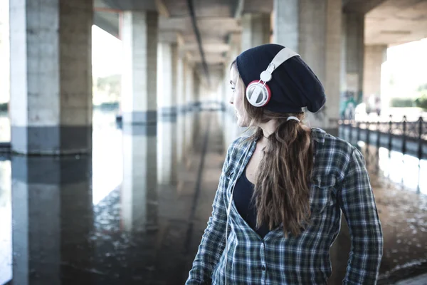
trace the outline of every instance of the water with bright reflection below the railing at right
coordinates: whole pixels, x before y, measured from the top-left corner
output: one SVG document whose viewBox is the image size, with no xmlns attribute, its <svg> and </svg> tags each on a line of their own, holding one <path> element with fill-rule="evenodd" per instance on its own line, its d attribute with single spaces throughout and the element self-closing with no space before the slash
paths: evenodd
<svg viewBox="0 0 427 285">
<path fill-rule="evenodd" d="M 384 232 L 379 284 L 427 272 L 426 160 L 362 146 Z M 427 280 L 424 284 L 427 284 Z"/>
</svg>

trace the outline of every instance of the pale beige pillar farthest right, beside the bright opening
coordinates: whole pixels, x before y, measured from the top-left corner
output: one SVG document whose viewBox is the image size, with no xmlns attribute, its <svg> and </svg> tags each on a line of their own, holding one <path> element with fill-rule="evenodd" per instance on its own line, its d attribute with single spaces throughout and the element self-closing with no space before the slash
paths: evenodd
<svg viewBox="0 0 427 285">
<path fill-rule="evenodd" d="M 365 46 L 364 51 L 364 95 L 381 98 L 381 65 L 387 60 L 387 46 Z"/>
</svg>

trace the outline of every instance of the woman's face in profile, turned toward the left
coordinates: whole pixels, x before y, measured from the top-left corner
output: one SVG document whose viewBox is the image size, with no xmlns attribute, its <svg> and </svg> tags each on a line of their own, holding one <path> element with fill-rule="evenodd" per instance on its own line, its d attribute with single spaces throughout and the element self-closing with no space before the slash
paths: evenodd
<svg viewBox="0 0 427 285">
<path fill-rule="evenodd" d="M 238 83 L 239 81 L 240 83 Z M 230 104 L 234 106 L 234 110 L 236 111 L 237 124 L 239 127 L 248 127 L 248 118 L 243 108 L 243 95 L 245 95 L 244 85 L 243 82 L 241 82 L 235 65 L 231 67 L 230 83 L 232 92 Z"/>
</svg>

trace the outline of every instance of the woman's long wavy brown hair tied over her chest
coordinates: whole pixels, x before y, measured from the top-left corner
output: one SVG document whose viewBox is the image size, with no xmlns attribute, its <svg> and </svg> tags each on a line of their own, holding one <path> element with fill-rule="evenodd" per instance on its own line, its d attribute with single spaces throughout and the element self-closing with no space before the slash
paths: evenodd
<svg viewBox="0 0 427 285">
<path fill-rule="evenodd" d="M 231 63 L 236 68 L 236 61 Z M 241 90 L 246 86 L 238 76 Z M 252 202 L 257 209 L 256 227 L 268 224 L 269 229 L 283 224 L 283 233 L 288 237 L 290 232 L 297 237 L 310 222 L 310 178 L 313 167 L 313 143 L 310 133 L 302 128 L 297 120 L 287 120 L 295 116 L 304 120 L 304 113 L 274 113 L 265 108 L 251 105 L 243 96 L 243 108 L 249 118 L 248 130 L 252 135 L 248 140 L 263 137 L 259 123 L 277 120 L 278 128 L 268 137 L 263 148 L 263 157 L 258 166 Z"/>
</svg>

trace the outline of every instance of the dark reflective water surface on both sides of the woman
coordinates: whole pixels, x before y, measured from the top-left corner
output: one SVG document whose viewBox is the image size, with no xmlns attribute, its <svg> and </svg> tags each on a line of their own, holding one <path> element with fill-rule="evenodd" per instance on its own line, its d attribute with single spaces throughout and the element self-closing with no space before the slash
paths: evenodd
<svg viewBox="0 0 427 285">
<path fill-rule="evenodd" d="M 181 165 L 174 162 L 172 184 L 165 182 L 172 170 L 157 167 L 164 161 L 156 151 L 167 149 L 162 141 L 138 128 L 115 128 L 112 113 L 95 116 L 92 157 L 0 160 L 0 284 L 184 284 L 221 174 L 216 116 L 196 119 L 202 125 L 194 148 Z M 168 124 L 159 129 L 174 128 Z M 426 162 L 418 169 L 411 157 L 361 149 L 384 230 L 379 284 L 421 274 Z M 341 284 L 349 244 L 343 222 L 330 284 Z"/>
</svg>

